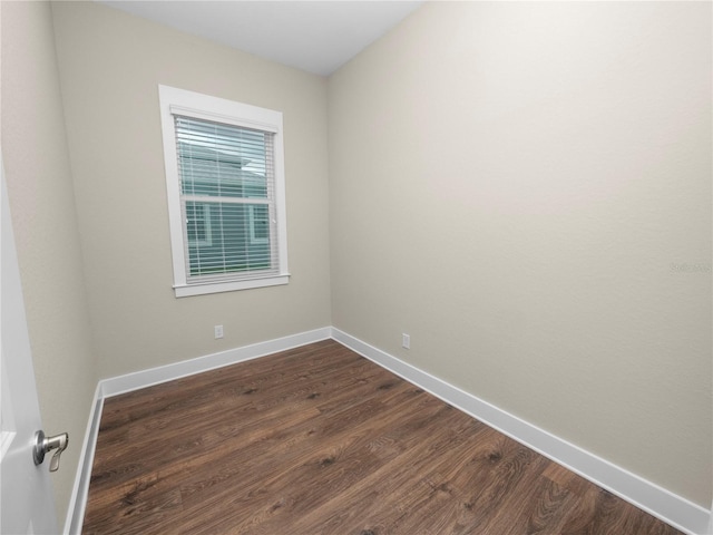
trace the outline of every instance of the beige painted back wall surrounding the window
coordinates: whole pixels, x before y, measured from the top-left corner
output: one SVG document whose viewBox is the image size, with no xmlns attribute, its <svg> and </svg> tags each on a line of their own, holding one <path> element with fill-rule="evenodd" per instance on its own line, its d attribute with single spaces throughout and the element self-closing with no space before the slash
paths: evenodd
<svg viewBox="0 0 713 535">
<path fill-rule="evenodd" d="M 95 2 L 52 9 L 99 376 L 330 324 L 325 79 Z M 159 84 L 284 114 L 290 284 L 175 298 Z"/>
</svg>

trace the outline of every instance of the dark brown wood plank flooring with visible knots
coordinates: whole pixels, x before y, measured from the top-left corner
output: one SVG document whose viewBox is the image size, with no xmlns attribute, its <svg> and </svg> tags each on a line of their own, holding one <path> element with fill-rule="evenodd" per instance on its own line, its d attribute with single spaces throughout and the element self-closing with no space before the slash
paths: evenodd
<svg viewBox="0 0 713 535">
<path fill-rule="evenodd" d="M 330 340 L 107 399 L 84 533 L 680 532 Z"/>
</svg>

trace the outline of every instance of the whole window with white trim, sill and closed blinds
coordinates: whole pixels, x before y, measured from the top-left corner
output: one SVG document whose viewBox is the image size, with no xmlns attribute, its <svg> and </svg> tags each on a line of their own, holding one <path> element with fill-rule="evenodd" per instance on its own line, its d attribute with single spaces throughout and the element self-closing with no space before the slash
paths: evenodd
<svg viewBox="0 0 713 535">
<path fill-rule="evenodd" d="M 159 86 L 176 296 L 286 284 L 282 114 Z"/>
</svg>

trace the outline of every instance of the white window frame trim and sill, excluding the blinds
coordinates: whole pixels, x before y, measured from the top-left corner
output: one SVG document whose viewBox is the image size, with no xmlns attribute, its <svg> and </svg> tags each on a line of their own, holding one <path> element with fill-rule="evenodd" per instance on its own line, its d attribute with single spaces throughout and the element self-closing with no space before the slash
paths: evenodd
<svg viewBox="0 0 713 535">
<path fill-rule="evenodd" d="M 290 282 L 290 272 L 287 271 L 287 225 L 282 113 L 164 85 L 158 86 L 158 96 L 164 139 L 170 251 L 174 269 L 173 288 L 176 298 L 287 284 Z M 276 273 L 263 276 L 250 275 L 247 279 L 242 278 L 244 275 L 236 275 L 236 279 L 242 280 L 188 282 L 189 278 L 186 273 L 188 251 L 187 243 L 184 240 L 183 215 L 180 210 L 180 176 L 178 173 L 174 115 L 183 115 L 245 128 L 255 128 L 274 134 L 274 207 L 277 220 Z"/>
</svg>

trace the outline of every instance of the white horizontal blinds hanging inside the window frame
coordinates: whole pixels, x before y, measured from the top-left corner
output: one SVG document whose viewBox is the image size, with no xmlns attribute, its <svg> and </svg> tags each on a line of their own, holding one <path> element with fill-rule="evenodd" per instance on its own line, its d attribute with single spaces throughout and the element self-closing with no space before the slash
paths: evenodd
<svg viewBox="0 0 713 535">
<path fill-rule="evenodd" d="M 274 134 L 176 115 L 187 283 L 279 271 Z"/>
</svg>

